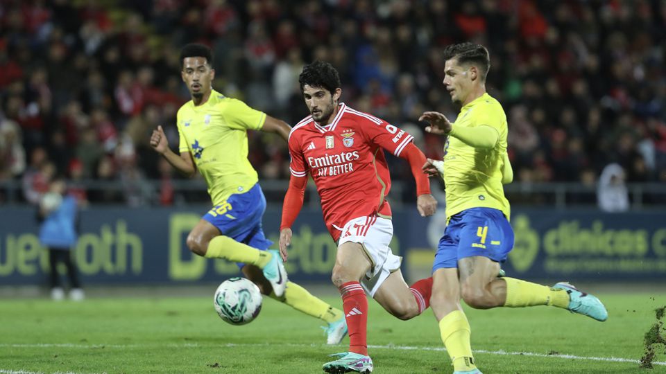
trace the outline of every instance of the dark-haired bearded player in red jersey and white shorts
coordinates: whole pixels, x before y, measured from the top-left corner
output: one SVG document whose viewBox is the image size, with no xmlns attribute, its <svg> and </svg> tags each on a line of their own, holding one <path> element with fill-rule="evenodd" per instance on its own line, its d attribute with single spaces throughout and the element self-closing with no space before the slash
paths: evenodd
<svg viewBox="0 0 666 374">
<path fill-rule="evenodd" d="M 413 145 L 412 136 L 339 103 L 340 78 L 331 64 L 313 62 L 298 80 L 311 115 L 289 134 L 291 180 L 282 208 L 280 253 L 287 260 L 291 225 L 302 207 L 309 174 L 321 197 L 326 227 L 338 244 L 332 281 L 342 295 L 350 338 L 349 351 L 333 355 L 337 359 L 323 369 L 370 373 L 366 292 L 395 317 L 411 319 L 428 307 L 432 289 L 432 278 L 408 287 L 400 271 L 401 258 L 388 247 L 393 225 L 386 201 L 391 178 L 384 150 L 409 162 L 420 215 L 434 214 L 437 202 L 421 171 L 425 156 Z"/>
</svg>

